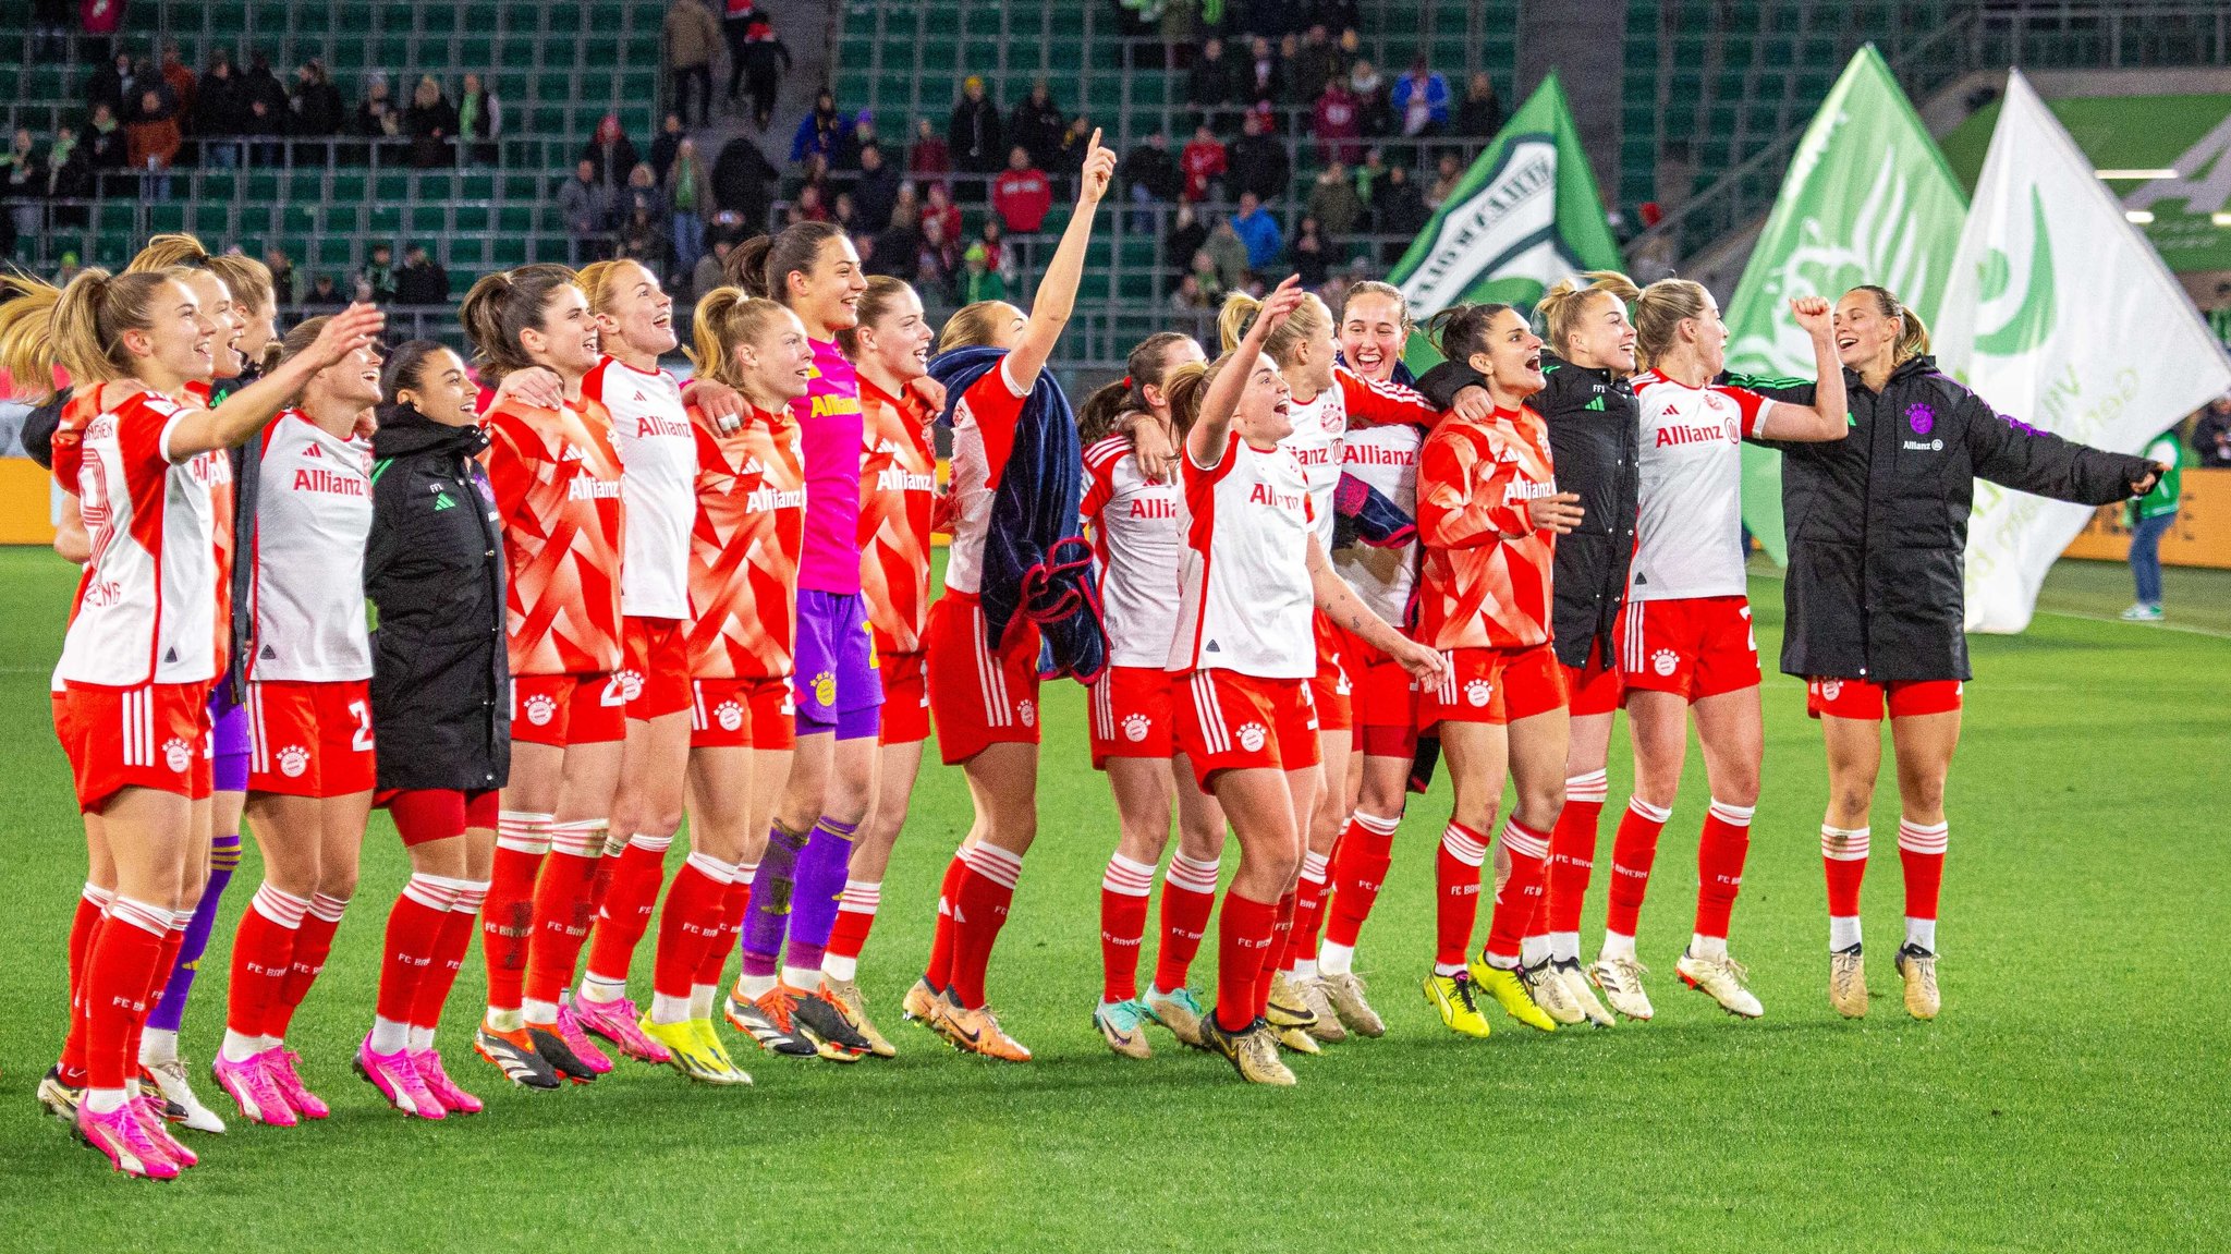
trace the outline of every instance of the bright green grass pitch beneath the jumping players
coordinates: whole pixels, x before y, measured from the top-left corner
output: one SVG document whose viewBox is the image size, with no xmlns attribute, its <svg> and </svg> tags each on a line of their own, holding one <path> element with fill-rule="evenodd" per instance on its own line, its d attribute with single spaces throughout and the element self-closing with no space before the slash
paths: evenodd
<svg viewBox="0 0 2231 1254">
<path fill-rule="evenodd" d="M 58 1044 L 62 933 L 83 872 L 45 696 L 71 569 L 0 551 L 0 585 L 7 1250 L 2059 1252 L 2231 1238 L 2231 640 L 2220 634 L 2231 578 L 2220 573 L 2171 571 L 2169 587 L 2171 620 L 2213 634 L 2041 616 L 2021 638 L 1974 640 L 1934 1024 L 1903 1015 L 1890 968 L 1892 788 L 1876 803 L 1867 884 L 1874 1013 L 1847 1024 L 1827 1006 L 1818 732 L 1798 685 L 1769 676 L 1765 797 L 1736 910 L 1762 1022 L 1736 1022 L 1673 977 L 1707 801 L 1691 752 L 1642 917 L 1655 1022 L 1539 1035 L 1490 1009 L 1493 1040 L 1439 1026 L 1417 977 L 1443 785 L 1412 803 L 1363 937 L 1385 1040 L 1298 1060 L 1292 1091 L 1245 1087 L 1162 1033 L 1151 1062 L 1113 1058 L 1086 1022 L 1113 810 L 1086 768 L 1082 689 L 1055 683 L 1040 841 L 991 973 L 993 1002 L 1035 1062 L 962 1058 L 899 1022 L 939 866 L 968 823 L 959 772 L 930 765 L 861 968 L 895 1062 L 785 1064 L 745 1046 L 759 1084 L 743 1091 L 631 1062 L 589 1091 L 513 1091 L 466 1044 L 475 948 L 444 1044 L 489 1113 L 408 1122 L 348 1069 L 404 879 L 393 828 L 375 817 L 364 884 L 294 1033 L 332 1120 L 196 1140 L 205 1165 L 172 1185 L 109 1174 L 31 1100 Z M 2119 567 L 2064 565 L 2046 605 L 2113 618 L 2126 598 Z M 1774 658 L 1780 587 L 1756 580 L 1754 600 Z M 1629 779 L 1617 754 L 1611 774 L 1615 814 Z M 257 877 L 250 852 L 185 1024 L 196 1064 L 221 1029 L 223 937 Z M 647 968 L 645 951 L 638 984 Z M 1196 971 L 1211 968 L 1214 944 Z M 230 1109 L 205 1075 L 196 1084 Z"/>
</svg>

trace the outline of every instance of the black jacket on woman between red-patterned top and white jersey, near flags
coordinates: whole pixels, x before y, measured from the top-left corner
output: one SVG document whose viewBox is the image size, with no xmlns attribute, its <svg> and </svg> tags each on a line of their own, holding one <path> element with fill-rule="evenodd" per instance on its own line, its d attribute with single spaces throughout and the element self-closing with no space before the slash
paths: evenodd
<svg viewBox="0 0 2231 1254">
<path fill-rule="evenodd" d="M 1548 422 L 1557 491 L 1580 493 L 1580 527 L 1557 538 L 1553 643 L 1568 667 L 1617 658 L 1626 567 L 1635 558 L 1635 507 L 1642 491 L 1642 415 L 1635 390 L 1611 370 L 1573 366 L 1544 353 L 1548 386 L 1528 406 Z M 1419 379 L 1426 399 L 1448 408 L 1484 379 L 1461 361 L 1441 361 Z"/>
</svg>

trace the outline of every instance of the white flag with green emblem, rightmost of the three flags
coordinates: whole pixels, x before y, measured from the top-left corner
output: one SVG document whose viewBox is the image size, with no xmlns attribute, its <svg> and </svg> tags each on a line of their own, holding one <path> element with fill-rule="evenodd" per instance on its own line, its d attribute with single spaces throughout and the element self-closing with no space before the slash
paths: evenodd
<svg viewBox="0 0 2231 1254">
<path fill-rule="evenodd" d="M 1937 328 L 1939 364 L 2001 413 L 2137 453 L 2231 386 L 2231 359 L 2122 216 L 2030 83 L 2008 76 Z M 1974 484 L 1968 629 L 2021 631 L 2037 585 L 2090 518 Z"/>
</svg>

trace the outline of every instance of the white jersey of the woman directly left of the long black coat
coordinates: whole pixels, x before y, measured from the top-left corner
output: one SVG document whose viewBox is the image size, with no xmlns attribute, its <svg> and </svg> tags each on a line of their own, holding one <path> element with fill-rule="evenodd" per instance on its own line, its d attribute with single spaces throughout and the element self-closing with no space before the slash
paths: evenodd
<svg viewBox="0 0 2231 1254">
<path fill-rule="evenodd" d="M 248 678 L 373 678 L 364 623 L 370 533 L 373 448 L 297 411 L 274 417 L 257 469 Z"/>
</svg>

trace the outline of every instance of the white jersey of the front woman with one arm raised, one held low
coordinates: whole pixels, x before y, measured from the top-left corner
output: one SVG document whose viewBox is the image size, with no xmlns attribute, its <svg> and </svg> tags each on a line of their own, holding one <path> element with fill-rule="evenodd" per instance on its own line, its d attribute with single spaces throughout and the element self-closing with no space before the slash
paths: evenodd
<svg viewBox="0 0 2231 1254">
<path fill-rule="evenodd" d="M 1232 669 L 1256 678 L 1316 674 L 1310 484 L 1281 444 L 1232 437 L 1214 469 L 1185 453 L 1185 558 L 1178 634 L 1165 669 Z"/>
</svg>

